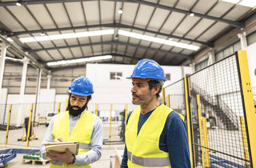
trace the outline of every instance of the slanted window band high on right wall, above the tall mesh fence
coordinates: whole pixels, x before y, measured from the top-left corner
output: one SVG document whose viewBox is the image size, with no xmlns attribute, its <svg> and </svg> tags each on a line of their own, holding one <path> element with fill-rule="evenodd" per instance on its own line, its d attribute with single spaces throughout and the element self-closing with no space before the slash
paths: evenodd
<svg viewBox="0 0 256 168">
<path fill-rule="evenodd" d="M 215 60 L 219 61 L 227 56 L 230 56 L 231 54 L 234 54 L 236 51 L 239 51 L 241 49 L 241 43 L 240 41 L 229 45 L 225 49 L 222 49 L 221 51 L 217 52 L 215 54 Z"/>
</svg>

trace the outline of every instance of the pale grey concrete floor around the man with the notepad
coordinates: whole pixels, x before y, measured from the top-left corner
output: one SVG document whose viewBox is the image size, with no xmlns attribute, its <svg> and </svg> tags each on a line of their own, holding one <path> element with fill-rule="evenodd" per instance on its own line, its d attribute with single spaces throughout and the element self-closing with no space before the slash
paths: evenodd
<svg viewBox="0 0 256 168">
<path fill-rule="evenodd" d="M 111 129 L 111 140 L 120 140 L 118 137 L 118 125 L 120 123 L 112 123 L 112 129 Z M 39 149 L 40 144 L 42 143 L 42 140 L 44 139 L 44 134 L 46 133 L 47 127 L 44 125 L 39 125 L 38 127 L 34 128 L 35 135 L 38 138 L 38 140 L 33 140 L 29 142 L 29 149 Z M 25 129 L 12 129 L 9 131 L 8 135 L 8 142 L 7 147 L 4 147 L 5 144 L 5 133 L 6 131 L 0 131 L 0 150 L 5 150 L 6 148 L 26 148 L 26 142 L 20 142 L 17 141 L 17 139 L 22 138 L 22 135 L 25 135 Z M 109 138 L 109 123 L 103 123 L 103 139 Z M 103 145 L 103 150 L 101 154 L 101 159 L 99 161 L 92 164 L 92 167 L 97 168 L 108 168 L 110 167 L 110 156 L 113 156 L 112 161 L 112 167 L 114 167 L 114 156 L 116 155 L 115 148 L 120 152 L 124 148 L 124 144 L 121 145 Z M 19 167 L 19 168 L 25 168 L 25 167 L 49 167 L 49 163 L 47 163 L 45 166 L 42 166 L 42 163 L 37 162 L 35 165 L 32 165 L 32 163 L 24 163 L 22 164 L 22 158 L 25 154 L 17 154 L 15 159 L 12 159 L 12 161 L 8 162 L 8 167 Z M 0 167 L 3 167 L 2 164 L 0 164 Z M 110 167 L 111 168 L 111 167 Z"/>
</svg>

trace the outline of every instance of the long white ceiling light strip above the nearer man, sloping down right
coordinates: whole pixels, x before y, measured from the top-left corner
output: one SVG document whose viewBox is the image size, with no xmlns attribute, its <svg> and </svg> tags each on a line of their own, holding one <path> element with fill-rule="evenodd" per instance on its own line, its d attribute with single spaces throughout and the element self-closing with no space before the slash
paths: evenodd
<svg viewBox="0 0 256 168">
<path fill-rule="evenodd" d="M 180 43 L 180 42 L 176 42 L 176 41 L 170 41 L 170 40 L 166 40 L 166 39 L 161 39 L 158 37 L 151 37 L 148 35 L 142 35 L 139 33 L 132 33 L 129 31 L 125 31 L 125 30 L 118 30 L 118 35 L 123 35 L 126 37 L 132 37 L 135 39 L 142 39 L 145 41 L 152 41 L 155 43 L 160 43 L 160 44 L 164 44 L 164 45 L 171 45 L 174 47 L 181 47 L 181 48 L 185 48 L 185 49 L 191 49 L 191 50 L 197 50 L 199 49 L 199 46 L 197 45 L 191 45 L 191 44 L 186 44 L 186 43 Z"/>
</svg>

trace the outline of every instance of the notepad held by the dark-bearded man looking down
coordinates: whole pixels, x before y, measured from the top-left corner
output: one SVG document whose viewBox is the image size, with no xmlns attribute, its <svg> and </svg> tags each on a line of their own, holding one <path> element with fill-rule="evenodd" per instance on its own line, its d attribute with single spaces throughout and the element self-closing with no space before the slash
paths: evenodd
<svg viewBox="0 0 256 168">
<path fill-rule="evenodd" d="M 65 149 L 69 148 L 72 154 L 78 154 L 79 142 L 49 142 L 44 146 L 46 147 L 46 152 L 49 152 L 49 150 L 65 152 Z"/>
</svg>

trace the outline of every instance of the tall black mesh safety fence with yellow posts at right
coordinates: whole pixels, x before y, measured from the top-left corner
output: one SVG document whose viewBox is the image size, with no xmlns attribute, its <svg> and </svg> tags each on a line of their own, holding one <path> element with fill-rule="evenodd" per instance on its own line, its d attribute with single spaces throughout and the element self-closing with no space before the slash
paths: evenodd
<svg viewBox="0 0 256 168">
<path fill-rule="evenodd" d="M 192 167 L 256 167 L 256 114 L 246 51 L 164 88 L 185 116 Z"/>
</svg>

